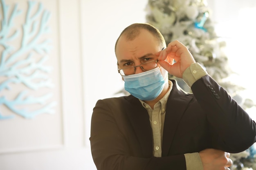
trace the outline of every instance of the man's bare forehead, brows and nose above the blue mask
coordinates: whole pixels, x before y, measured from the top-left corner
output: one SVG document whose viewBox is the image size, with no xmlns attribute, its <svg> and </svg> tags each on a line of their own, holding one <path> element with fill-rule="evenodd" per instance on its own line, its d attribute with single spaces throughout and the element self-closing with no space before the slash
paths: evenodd
<svg viewBox="0 0 256 170">
<path fill-rule="evenodd" d="M 117 42 L 116 56 L 119 68 L 137 66 L 148 60 L 157 60 L 155 53 L 161 50 L 157 39 L 147 30 L 142 29 L 139 36 L 134 40 L 126 40 L 125 35 L 121 35 Z M 144 72 L 140 67 L 136 67 L 135 74 Z"/>
</svg>

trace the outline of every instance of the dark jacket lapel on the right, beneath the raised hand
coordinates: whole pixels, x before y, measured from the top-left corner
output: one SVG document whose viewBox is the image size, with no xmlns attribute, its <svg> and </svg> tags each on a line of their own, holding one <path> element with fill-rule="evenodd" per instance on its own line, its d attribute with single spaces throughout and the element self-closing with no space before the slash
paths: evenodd
<svg viewBox="0 0 256 170">
<path fill-rule="evenodd" d="M 173 89 L 166 104 L 166 115 L 164 120 L 163 144 L 162 144 L 162 157 L 168 156 L 168 151 L 171 147 L 176 128 L 182 118 L 187 105 L 192 97 L 187 95 L 186 92 L 177 85 L 176 81 L 173 82 Z"/>
</svg>

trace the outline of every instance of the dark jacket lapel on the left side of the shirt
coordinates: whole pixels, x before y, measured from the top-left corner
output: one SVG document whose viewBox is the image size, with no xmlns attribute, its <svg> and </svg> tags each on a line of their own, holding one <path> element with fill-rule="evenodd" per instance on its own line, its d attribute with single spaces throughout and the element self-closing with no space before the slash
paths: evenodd
<svg viewBox="0 0 256 170">
<path fill-rule="evenodd" d="M 152 157 L 152 129 L 150 126 L 148 112 L 146 108 L 141 105 L 139 100 L 132 95 L 128 96 L 126 99 L 129 103 L 126 113 L 140 143 L 142 154 L 144 157 Z"/>
</svg>

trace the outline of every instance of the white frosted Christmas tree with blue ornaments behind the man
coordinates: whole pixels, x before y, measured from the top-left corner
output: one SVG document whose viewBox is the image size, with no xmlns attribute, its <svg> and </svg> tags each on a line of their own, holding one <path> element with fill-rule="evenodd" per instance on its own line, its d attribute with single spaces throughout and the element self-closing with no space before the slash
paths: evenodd
<svg viewBox="0 0 256 170">
<path fill-rule="evenodd" d="M 229 60 L 225 54 L 226 42 L 217 35 L 214 23 L 211 21 L 211 10 L 206 0 L 148 0 L 146 6 L 146 22 L 155 26 L 164 35 L 166 44 L 179 40 L 191 51 L 196 62 L 224 87 L 227 92 L 244 108 L 255 106 L 251 99 L 243 99 L 239 95 L 244 88 L 229 80 L 229 76 L 236 74 L 229 67 Z M 185 90 L 191 89 L 182 79 L 176 79 Z M 256 148 L 231 155 L 233 170 L 256 170 Z"/>
</svg>

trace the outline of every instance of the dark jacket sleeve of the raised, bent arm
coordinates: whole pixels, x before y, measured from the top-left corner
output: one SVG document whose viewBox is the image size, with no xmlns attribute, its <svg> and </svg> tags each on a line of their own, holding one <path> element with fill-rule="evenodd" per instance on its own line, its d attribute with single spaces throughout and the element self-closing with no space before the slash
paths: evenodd
<svg viewBox="0 0 256 170">
<path fill-rule="evenodd" d="M 213 146 L 236 153 L 256 142 L 255 122 L 212 77 L 198 79 L 191 90 L 207 114 Z"/>
</svg>

